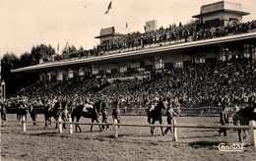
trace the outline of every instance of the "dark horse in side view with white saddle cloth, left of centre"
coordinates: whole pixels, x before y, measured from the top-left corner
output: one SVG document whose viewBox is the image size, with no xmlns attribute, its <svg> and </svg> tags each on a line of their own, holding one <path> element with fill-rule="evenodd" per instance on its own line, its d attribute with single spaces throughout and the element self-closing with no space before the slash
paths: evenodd
<svg viewBox="0 0 256 161">
<path fill-rule="evenodd" d="M 99 123 L 98 122 L 99 108 L 100 108 L 100 106 L 98 104 L 95 104 L 95 105 L 86 104 L 86 107 L 83 104 L 76 106 L 75 109 L 71 113 L 72 122 L 74 122 L 74 120 L 76 118 L 76 122 L 78 123 L 80 118 L 84 117 L 84 118 L 91 118 L 92 123 L 95 123 L 95 121 L 96 121 L 96 123 Z M 93 133 L 93 127 L 94 126 L 92 125 L 91 133 Z M 99 127 L 99 131 L 102 132 L 100 125 L 98 127 Z M 82 130 L 78 124 L 76 124 L 76 132 L 77 132 L 77 128 L 79 128 L 79 131 L 81 133 Z"/>
</svg>

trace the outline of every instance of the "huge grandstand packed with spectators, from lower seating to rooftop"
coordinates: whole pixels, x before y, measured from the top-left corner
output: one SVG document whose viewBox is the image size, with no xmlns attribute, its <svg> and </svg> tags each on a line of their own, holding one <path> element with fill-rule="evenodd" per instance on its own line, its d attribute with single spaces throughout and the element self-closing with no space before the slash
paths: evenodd
<svg viewBox="0 0 256 161">
<path fill-rule="evenodd" d="M 202 6 L 194 16 L 199 21 L 191 24 L 108 39 L 113 36 L 102 34 L 96 49 L 85 55 L 12 70 L 40 74 L 41 82 L 19 94 L 59 95 L 70 103 L 76 94 L 119 99 L 133 108 L 160 97 L 173 106 L 220 105 L 224 99 L 250 106 L 256 101 L 256 23 L 242 23 L 249 13 L 240 7 L 222 1 Z"/>
</svg>

